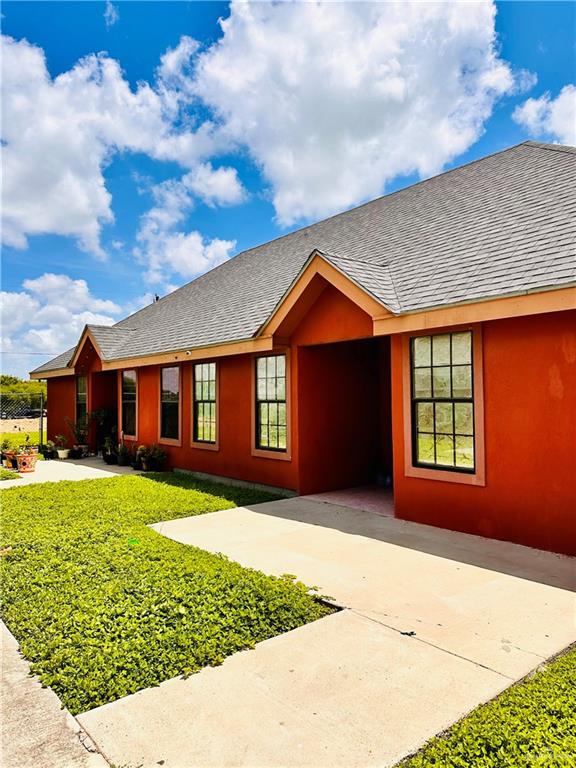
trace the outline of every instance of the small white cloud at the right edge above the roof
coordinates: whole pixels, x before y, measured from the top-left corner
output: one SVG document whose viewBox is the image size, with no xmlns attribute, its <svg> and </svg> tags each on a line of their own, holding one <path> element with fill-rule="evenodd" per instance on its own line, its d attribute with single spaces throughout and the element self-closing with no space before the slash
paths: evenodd
<svg viewBox="0 0 576 768">
<path fill-rule="evenodd" d="M 550 137 L 561 144 L 576 144 L 576 87 L 565 85 L 553 99 L 545 93 L 516 107 L 513 119 L 531 136 Z"/>
</svg>

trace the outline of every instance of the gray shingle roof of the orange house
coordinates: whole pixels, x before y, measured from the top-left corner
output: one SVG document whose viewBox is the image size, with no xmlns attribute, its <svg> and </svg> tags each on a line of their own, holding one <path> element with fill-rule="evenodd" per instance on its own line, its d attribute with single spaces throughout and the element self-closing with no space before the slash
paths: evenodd
<svg viewBox="0 0 576 768">
<path fill-rule="evenodd" d="M 394 313 L 568 285 L 575 185 L 575 148 L 525 142 L 244 251 L 93 333 L 106 359 L 248 339 L 315 249 Z"/>
</svg>

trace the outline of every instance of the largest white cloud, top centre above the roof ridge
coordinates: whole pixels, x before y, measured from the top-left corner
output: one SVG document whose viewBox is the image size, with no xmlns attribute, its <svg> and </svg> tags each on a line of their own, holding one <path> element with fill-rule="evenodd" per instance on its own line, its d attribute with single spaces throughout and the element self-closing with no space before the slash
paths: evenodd
<svg viewBox="0 0 576 768">
<path fill-rule="evenodd" d="M 280 222 L 317 218 L 400 174 L 433 174 L 479 138 L 517 87 L 495 13 L 487 1 L 234 1 L 189 88 L 248 148 Z"/>
</svg>

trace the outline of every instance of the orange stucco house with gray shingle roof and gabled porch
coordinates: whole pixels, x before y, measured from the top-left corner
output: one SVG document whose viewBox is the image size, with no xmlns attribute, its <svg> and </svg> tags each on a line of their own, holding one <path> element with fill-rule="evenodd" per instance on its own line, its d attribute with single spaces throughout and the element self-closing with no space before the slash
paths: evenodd
<svg viewBox="0 0 576 768">
<path fill-rule="evenodd" d="M 89 325 L 31 373 L 48 433 L 107 408 L 176 468 L 576 554 L 575 182 L 525 142 Z"/>
</svg>

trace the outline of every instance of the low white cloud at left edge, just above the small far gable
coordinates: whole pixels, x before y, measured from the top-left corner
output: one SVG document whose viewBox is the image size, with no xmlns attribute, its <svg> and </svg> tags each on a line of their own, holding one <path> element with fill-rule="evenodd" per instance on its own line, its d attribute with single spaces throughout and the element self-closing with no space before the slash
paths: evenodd
<svg viewBox="0 0 576 768">
<path fill-rule="evenodd" d="M 86 324 L 112 325 L 122 308 L 94 296 L 84 280 L 44 274 L 25 280 L 21 291 L 3 291 L 3 372 L 25 376 L 47 359 L 72 347 Z M 9 353 L 9 354 L 6 354 Z"/>
</svg>

